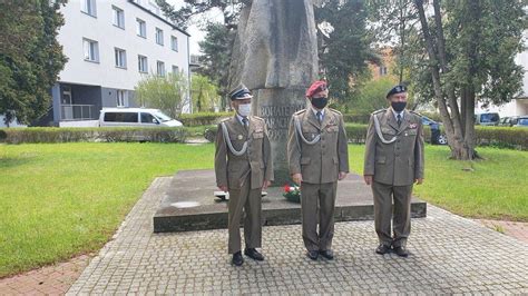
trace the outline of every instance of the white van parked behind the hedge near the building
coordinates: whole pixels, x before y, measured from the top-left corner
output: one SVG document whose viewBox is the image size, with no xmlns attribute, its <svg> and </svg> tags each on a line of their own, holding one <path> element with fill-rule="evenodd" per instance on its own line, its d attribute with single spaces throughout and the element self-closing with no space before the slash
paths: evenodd
<svg viewBox="0 0 528 296">
<path fill-rule="evenodd" d="M 145 108 L 102 108 L 99 127 L 180 127 L 158 109 Z"/>
</svg>

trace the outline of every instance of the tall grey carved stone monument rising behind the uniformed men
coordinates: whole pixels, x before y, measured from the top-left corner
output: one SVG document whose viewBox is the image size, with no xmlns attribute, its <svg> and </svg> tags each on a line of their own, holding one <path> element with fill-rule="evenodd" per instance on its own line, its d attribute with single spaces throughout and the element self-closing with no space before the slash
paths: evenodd
<svg viewBox="0 0 528 296">
<path fill-rule="evenodd" d="M 275 186 L 290 180 L 290 118 L 306 107 L 305 90 L 317 78 L 313 4 L 313 0 L 248 1 L 233 47 L 229 85 L 243 82 L 252 90 L 252 112 L 267 124 Z"/>
</svg>

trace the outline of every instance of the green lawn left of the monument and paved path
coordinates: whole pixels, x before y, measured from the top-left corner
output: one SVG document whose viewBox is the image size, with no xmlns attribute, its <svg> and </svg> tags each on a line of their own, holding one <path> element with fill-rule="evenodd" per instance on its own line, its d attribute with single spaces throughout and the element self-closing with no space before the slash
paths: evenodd
<svg viewBox="0 0 528 296">
<path fill-rule="evenodd" d="M 213 156 L 213 145 L 0 145 L 0 277 L 98 250 L 155 177 L 212 168 Z"/>
</svg>

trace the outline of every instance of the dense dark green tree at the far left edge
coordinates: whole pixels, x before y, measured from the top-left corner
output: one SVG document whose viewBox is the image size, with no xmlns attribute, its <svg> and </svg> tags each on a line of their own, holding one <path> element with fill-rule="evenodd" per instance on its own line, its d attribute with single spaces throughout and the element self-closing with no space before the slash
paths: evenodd
<svg viewBox="0 0 528 296">
<path fill-rule="evenodd" d="M 0 1 L 0 114 L 9 126 L 45 115 L 67 58 L 57 42 L 66 0 Z"/>
</svg>

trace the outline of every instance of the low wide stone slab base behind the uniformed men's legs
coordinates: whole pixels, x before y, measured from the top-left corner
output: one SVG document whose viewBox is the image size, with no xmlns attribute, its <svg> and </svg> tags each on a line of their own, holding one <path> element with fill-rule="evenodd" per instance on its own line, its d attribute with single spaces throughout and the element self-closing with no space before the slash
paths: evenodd
<svg viewBox="0 0 528 296">
<path fill-rule="evenodd" d="M 214 196 L 214 170 L 178 171 L 166 196 L 154 215 L 154 231 L 189 231 L 227 228 L 227 201 Z M 287 201 L 283 187 L 271 187 L 262 198 L 263 225 L 301 223 L 301 205 Z M 427 204 L 417 198 L 411 201 L 411 216 L 427 216 Z M 361 176 L 350 174 L 338 182 L 335 221 L 369 220 L 374 218 L 371 188 Z"/>
</svg>

